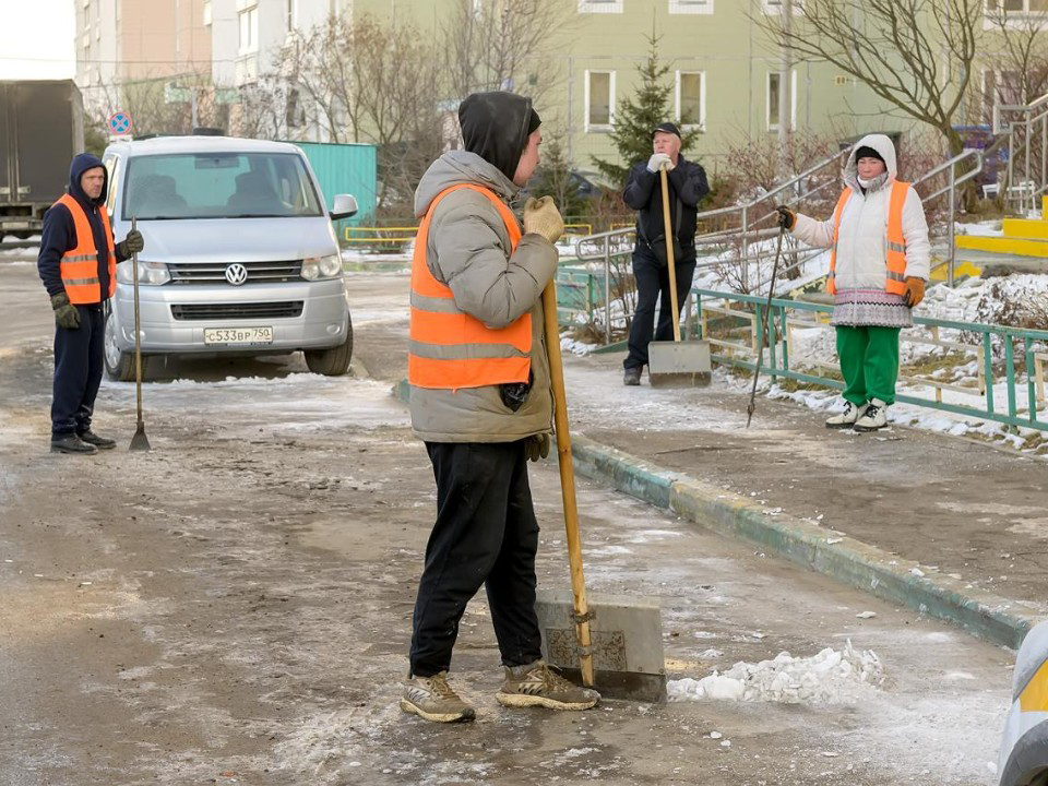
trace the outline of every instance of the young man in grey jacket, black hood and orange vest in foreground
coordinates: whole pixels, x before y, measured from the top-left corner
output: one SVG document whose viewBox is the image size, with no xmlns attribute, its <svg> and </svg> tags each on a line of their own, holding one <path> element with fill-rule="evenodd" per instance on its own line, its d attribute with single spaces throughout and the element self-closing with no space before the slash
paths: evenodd
<svg viewBox="0 0 1048 786">
<path fill-rule="evenodd" d="M 468 720 L 448 683 L 466 604 L 485 586 L 505 680 L 505 706 L 586 710 L 577 688 L 541 659 L 535 615 L 538 523 L 527 460 L 549 452 L 552 421 L 541 295 L 564 225 L 552 200 L 528 200 L 523 231 L 509 207 L 541 142 L 532 102 L 477 93 L 458 109 L 464 150 L 438 158 L 415 192 L 421 221 L 412 267 L 412 426 L 437 480 L 437 521 L 415 603 L 410 674 L 401 708 Z"/>
</svg>

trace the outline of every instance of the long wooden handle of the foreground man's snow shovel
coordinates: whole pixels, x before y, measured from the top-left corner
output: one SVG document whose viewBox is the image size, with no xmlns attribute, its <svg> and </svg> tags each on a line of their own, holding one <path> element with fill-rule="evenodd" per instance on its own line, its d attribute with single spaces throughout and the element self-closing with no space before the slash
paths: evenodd
<svg viewBox="0 0 1048 786">
<path fill-rule="evenodd" d="M 560 356 L 560 325 L 557 321 L 557 285 L 550 281 L 543 290 L 546 329 L 546 357 L 553 388 L 553 424 L 557 429 L 557 458 L 560 463 L 560 491 L 564 501 L 564 529 L 568 536 L 568 563 L 574 596 L 575 634 L 581 651 L 579 668 L 583 684 L 594 683 L 593 652 L 590 638 L 590 606 L 582 571 L 582 538 L 579 535 L 579 508 L 575 501 L 575 472 L 571 464 L 571 433 L 568 429 L 568 397 L 564 394 L 564 367 Z"/>
</svg>

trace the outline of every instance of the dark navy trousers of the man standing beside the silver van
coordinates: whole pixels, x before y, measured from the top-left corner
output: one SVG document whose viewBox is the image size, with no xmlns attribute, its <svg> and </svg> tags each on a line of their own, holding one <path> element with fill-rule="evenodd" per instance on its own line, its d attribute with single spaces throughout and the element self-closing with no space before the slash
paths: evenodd
<svg viewBox="0 0 1048 786">
<path fill-rule="evenodd" d="M 102 384 L 105 333 L 102 305 L 78 306 L 80 327 L 55 327 L 55 384 L 51 437 L 91 428 L 95 396 Z"/>
</svg>

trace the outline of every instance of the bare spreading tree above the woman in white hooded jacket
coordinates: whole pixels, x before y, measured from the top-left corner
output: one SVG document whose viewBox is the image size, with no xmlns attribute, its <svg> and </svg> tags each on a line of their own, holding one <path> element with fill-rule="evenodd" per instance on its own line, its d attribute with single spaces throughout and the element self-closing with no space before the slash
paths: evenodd
<svg viewBox="0 0 1048 786">
<path fill-rule="evenodd" d="M 803 15 L 754 15 L 771 40 L 824 60 L 905 116 L 937 129 L 952 155 L 972 79 L 984 0 L 805 0 Z"/>
</svg>

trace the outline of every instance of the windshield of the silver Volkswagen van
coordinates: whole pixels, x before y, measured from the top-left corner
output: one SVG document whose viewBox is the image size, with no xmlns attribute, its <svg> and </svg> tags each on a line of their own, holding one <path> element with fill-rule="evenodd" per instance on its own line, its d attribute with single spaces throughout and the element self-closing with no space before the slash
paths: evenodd
<svg viewBox="0 0 1048 786">
<path fill-rule="evenodd" d="M 128 162 L 121 214 L 139 221 L 323 215 L 294 153 L 190 153 Z"/>
</svg>

